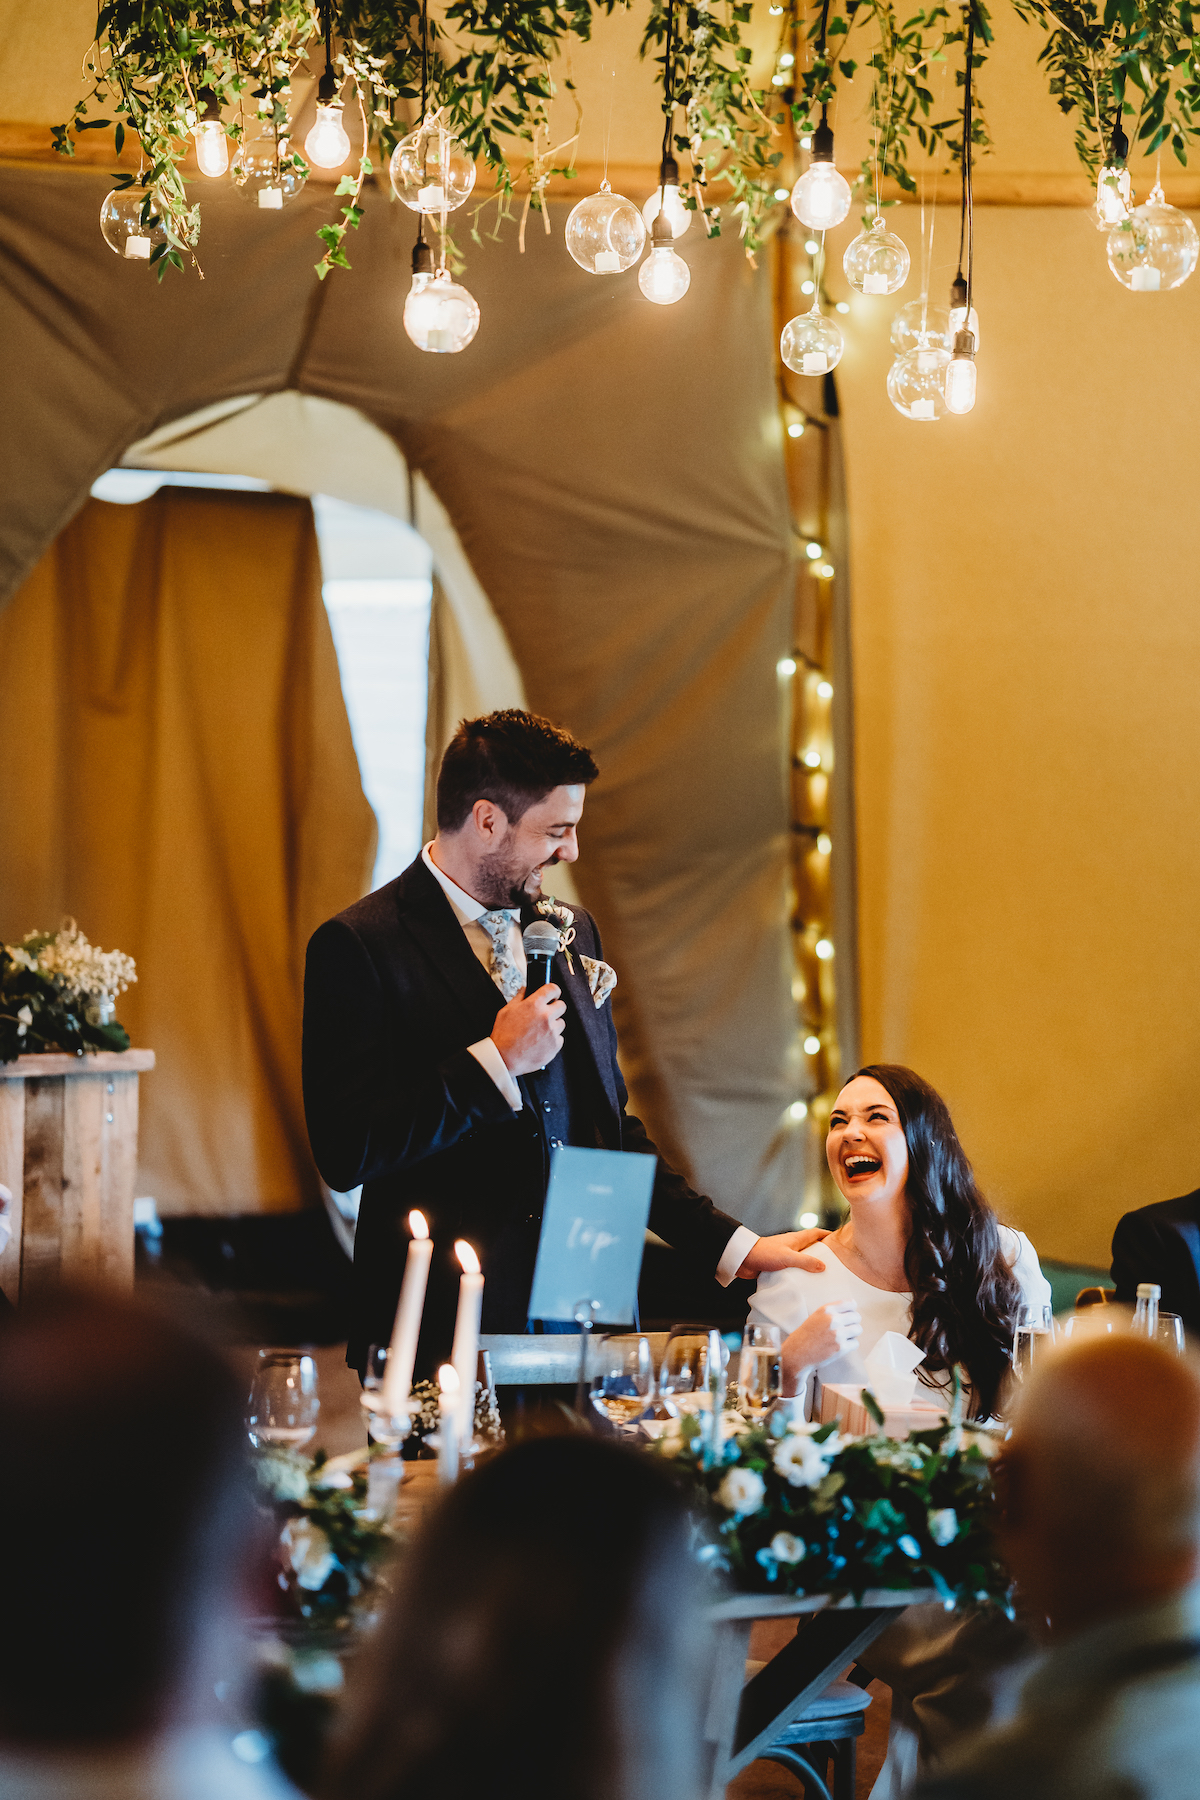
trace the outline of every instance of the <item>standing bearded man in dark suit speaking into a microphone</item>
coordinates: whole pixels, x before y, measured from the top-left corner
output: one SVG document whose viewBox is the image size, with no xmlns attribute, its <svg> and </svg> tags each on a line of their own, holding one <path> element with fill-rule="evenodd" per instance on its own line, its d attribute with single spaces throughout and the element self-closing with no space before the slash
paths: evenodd
<svg viewBox="0 0 1200 1800">
<path fill-rule="evenodd" d="M 588 913 L 574 913 L 554 979 L 525 994 L 522 927 L 569 923 L 542 898 L 542 875 L 576 860 L 596 776 L 590 752 L 533 713 L 464 720 L 437 778 L 437 837 L 309 941 L 308 1134 L 331 1188 L 363 1186 L 353 1368 L 390 1337 L 412 1208 L 435 1244 L 417 1352 L 417 1375 L 430 1375 L 450 1355 L 455 1238 L 482 1262 L 482 1328 L 524 1332 L 551 1150 L 657 1154 L 626 1112 L 613 977 Z M 662 1159 L 649 1226 L 725 1285 L 765 1269 L 822 1267 L 802 1255 L 820 1233 L 756 1237 Z"/>
</svg>

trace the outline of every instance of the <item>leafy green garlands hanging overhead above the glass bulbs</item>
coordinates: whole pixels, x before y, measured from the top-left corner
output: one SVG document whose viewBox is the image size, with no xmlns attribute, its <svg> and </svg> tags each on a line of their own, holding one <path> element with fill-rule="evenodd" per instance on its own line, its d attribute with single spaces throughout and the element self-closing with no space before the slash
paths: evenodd
<svg viewBox="0 0 1200 1800">
<path fill-rule="evenodd" d="M 200 205 L 184 180 L 193 130 L 205 119 L 221 122 L 237 151 L 234 180 L 246 178 L 250 139 L 266 144 L 284 196 L 299 191 L 308 164 L 290 139 L 291 85 L 326 70 L 329 27 L 338 97 L 353 103 L 362 149 L 358 167 L 335 189 L 345 202 L 338 218 L 320 227 L 324 256 L 317 266 L 326 275 L 349 266 L 345 238 L 362 218 L 372 151 L 383 158 L 392 153 L 419 122 L 423 99 L 491 171 L 473 236 L 488 207 L 495 207 L 495 225 L 507 220 L 522 187 L 525 209 L 543 207 L 551 175 L 574 175 L 570 149 L 579 131 L 578 99 L 565 79 L 576 128 L 551 148 L 552 67 L 590 38 L 597 14 L 628 4 L 452 0 L 426 18 L 421 0 L 108 0 L 85 58 L 88 90 L 72 119 L 56 126 L 54 142 L 74 155 L 81 131 L 112 130 L 121 151 L 135 133 L 140 167 L 119 173 L 117 187 L 146 193 L 146 220 L 153 196 L 162 241 L 148 261 L 158 275 L 184 268 L 185 257 L 194 261 L 200 236 Z M 1200 52 L 1189 0 L 1013 0 L 1013 9 L 1047 34 L 1042 63 L 1049 92 L 1078 117 L 1076 146 L 1092 176 L 1121 119 L 1144 153 L 1169 144 L 1186 162 L 1200 135 Z M 923 162 L 961 160 L 957 95 L 966 72 L 959 47 L 968 14 L 979 72 L 991 45 L 982 0 L 916 13 L 898 11 L 892 0 L 694 0 L 675 7 L 651 0 L 642 56 L 662 65 L 671 43 L 671 140 L 689 162 L 685 203 L 703 216 L 709 234 L 720 230 L 723 214 L 732 218 L 754 254 L 777 218 L 781 164 L 793 130 L 811 131 L 860 70 L 871 76 L 874 144 L 867 171 L 912 191 L 916 151 Z M 768 86 L 754 88 L 747 27 L 765 18 L 777 32 L 774 76 Z M 972 142 L 988 148 L 979 104 Z"/>
</svg>

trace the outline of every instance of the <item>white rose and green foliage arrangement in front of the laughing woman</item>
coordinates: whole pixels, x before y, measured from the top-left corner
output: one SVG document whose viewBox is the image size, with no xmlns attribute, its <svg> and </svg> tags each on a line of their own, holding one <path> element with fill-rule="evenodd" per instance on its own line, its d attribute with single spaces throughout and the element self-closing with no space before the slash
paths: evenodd
<svg viewBox="0 0 1200 1800">
<path fill-rule="evenodd" d="M 874 1397 L 864 1393 L 882 1424 Z M 930 1431 L 898 1440 L 840 1438 L 786 1408 L 763 1424 L 739 1413 L 671 1420 L 651 1445 L 687 1489 L 705 1562 L 752 1593 L 934 1588 L 948 1607 L 1011 1613 L 997 1559 L 988 1454 L 964 1433 L 961 1406 Z"/>
</svg>

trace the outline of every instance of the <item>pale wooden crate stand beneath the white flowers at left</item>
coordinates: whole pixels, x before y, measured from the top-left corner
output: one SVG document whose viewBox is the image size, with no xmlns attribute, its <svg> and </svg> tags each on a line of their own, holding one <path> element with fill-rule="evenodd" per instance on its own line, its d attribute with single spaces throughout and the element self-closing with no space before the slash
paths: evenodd
<svg viewBox="0 0 1200 1800">
<path fill-rule="evenodd" d="M 61 1282 L 133 1287 L 137 1078 L 153 1049 L 0 1064 L 0 1181 L 13 1237 L 0 1287 L 13 1305 Z"/>
</svg>

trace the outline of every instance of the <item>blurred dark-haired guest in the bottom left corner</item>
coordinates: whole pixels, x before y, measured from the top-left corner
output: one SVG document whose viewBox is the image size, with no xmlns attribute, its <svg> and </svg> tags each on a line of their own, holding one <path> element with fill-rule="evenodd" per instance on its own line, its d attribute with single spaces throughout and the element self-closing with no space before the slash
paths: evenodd
<svg viewBox="0 0 1200 1800">
<path fill-rule="evenodd" d="M 241 1399 L 216 1350 L 128 1301 L 63 1292 L 0 1330 L 5 1800 L 76 1778 L 88 1793 L 245 1791 L 252 1771 L 228 1750 L 214 1766 L 194 1730 L 239 1661 L 254 1544 Z M 167 1746 L 184 1739 L 173 1773 Z"/>
</svg>

